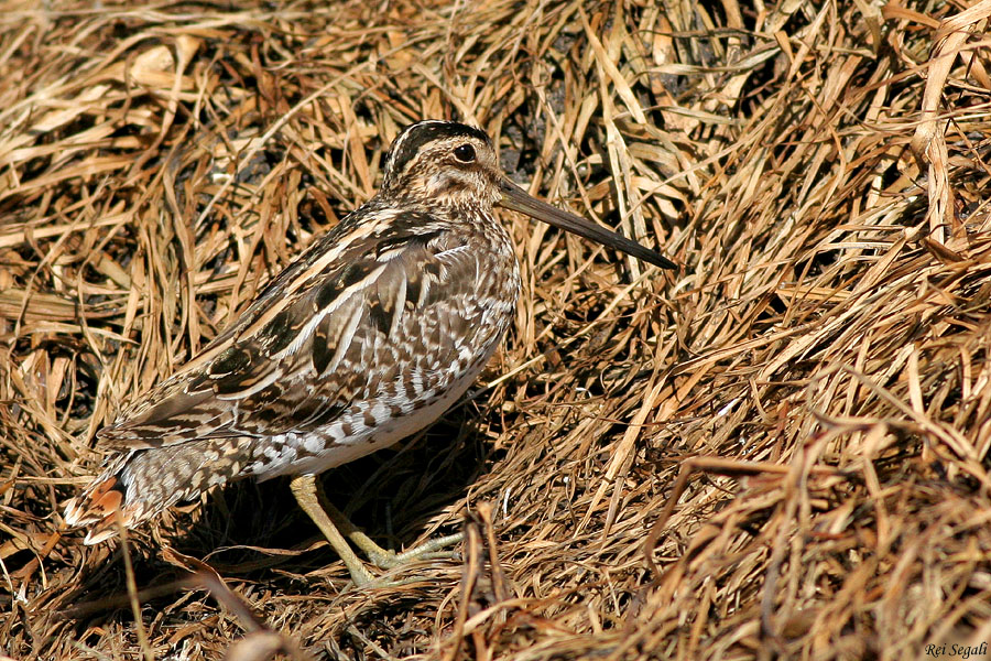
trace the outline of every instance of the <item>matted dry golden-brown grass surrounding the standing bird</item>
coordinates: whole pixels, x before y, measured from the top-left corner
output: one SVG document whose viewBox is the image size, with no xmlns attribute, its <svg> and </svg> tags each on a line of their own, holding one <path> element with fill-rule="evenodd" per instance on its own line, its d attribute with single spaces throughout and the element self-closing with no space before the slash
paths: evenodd
<svg viewBox="0 0 991 661">
<path fill-rule="evenodd" d="M 26 4 L 0 14 L 0 658 L 991 639 L 987 1 Z M 426 117 L 684 269 L 507 218 L 524 303 L 488 386 L 326 480 L 394 545 L 466 525 L 461 560 L 350 589 L 284 483 L 242 483 L 130 535 L 129 597 L 120 546 L 61 528 L 94 432 Z"/>
</svg>

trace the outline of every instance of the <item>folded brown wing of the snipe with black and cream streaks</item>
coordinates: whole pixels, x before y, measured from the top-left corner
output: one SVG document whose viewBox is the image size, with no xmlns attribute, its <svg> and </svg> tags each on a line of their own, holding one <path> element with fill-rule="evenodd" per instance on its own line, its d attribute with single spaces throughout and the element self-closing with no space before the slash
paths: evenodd
<svg viewBox="0 0 991 661">
<path fill-rule="evenodd" d="M 233 326 L 101 430 L 104 446 L 305 433 L 355 402 L 415 397 L 400 392 L 411 370 L 429 390 L 437 366 L 459 359 L 459 334 L 470 340 L 483 326 L 478 262 L 466 237 L 426 214 L 381 216 L 345 219 L 304 252 Z"/>
</svg>

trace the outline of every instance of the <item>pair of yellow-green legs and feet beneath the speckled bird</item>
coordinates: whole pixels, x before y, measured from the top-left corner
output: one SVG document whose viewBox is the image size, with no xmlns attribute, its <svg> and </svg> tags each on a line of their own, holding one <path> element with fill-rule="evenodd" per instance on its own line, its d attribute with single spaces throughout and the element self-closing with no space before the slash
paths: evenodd
<svg viewBox="0 0 991 661">
<path fill-rule="evenodd" d="M 314 475 L 301 475 L 293 479 L 290 485 L 296 502 L 303 508 L 335 552 L 345 562 L 348 571 L 351 573 L 351 579 L 358 586 L 372 583 L 374 577 L 369 573 L 351 548 L 345 541 L 345 535 L 351 542 L 361 549 L 373 565 L 381 570 L 391 570 L 406 562 L 414 560 L 429 560 L 432 557 L 447 556 L 448 553 L 439 553 L 443 549 L 453 546 L 464 539 L 461 533 L 449 534 L 437 538 L 428 542 L 424 542 L 420 546 L 410 549 L 402 553 L 388 551 L 374 543 L 371 538 L 361 532 L 357 525 L 351 523 L 344 512 L 334 507 L 324 495 L 320 483 Z M 344 533 L 344 534 L 341 534 Z"/>
</svg>

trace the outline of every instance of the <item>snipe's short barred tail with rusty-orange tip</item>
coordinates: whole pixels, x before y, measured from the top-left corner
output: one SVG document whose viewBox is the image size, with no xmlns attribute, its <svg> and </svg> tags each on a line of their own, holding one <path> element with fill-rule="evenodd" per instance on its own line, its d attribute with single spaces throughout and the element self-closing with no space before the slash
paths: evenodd
<svg viewBox="0 0 991 661">
<path fill-rule="evenodd" d="M 248 438 L 204 438 L 135 449 L 111 458 L 100 476 L 65 506 L 65 521 L 86 527 L 84 544 L 134 528 L 181 500 L 242 475 Z"/>
</svg>

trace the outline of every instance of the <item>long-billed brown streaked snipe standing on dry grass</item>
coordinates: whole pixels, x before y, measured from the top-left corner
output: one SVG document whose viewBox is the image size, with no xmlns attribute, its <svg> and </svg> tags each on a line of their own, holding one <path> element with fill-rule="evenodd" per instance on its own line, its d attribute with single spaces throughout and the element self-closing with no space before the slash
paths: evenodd
<svg viewBox="0 0 991 661">
<path fill-rule="evenodd" d="M 231 480 L 290 476 L 357 585 L 456 543 L 395 554 L 329 503 L 316 477 L 414 434 L 472 384 L 522 284 L 505 207 L 663 269 L 655 250 L 527 195 L 480 129 L 404 128 L 366 204 L 315 240 L 244 312 L 97 433 L 102 470 L 65 507 L 85 544 Z"/>
</svg>

